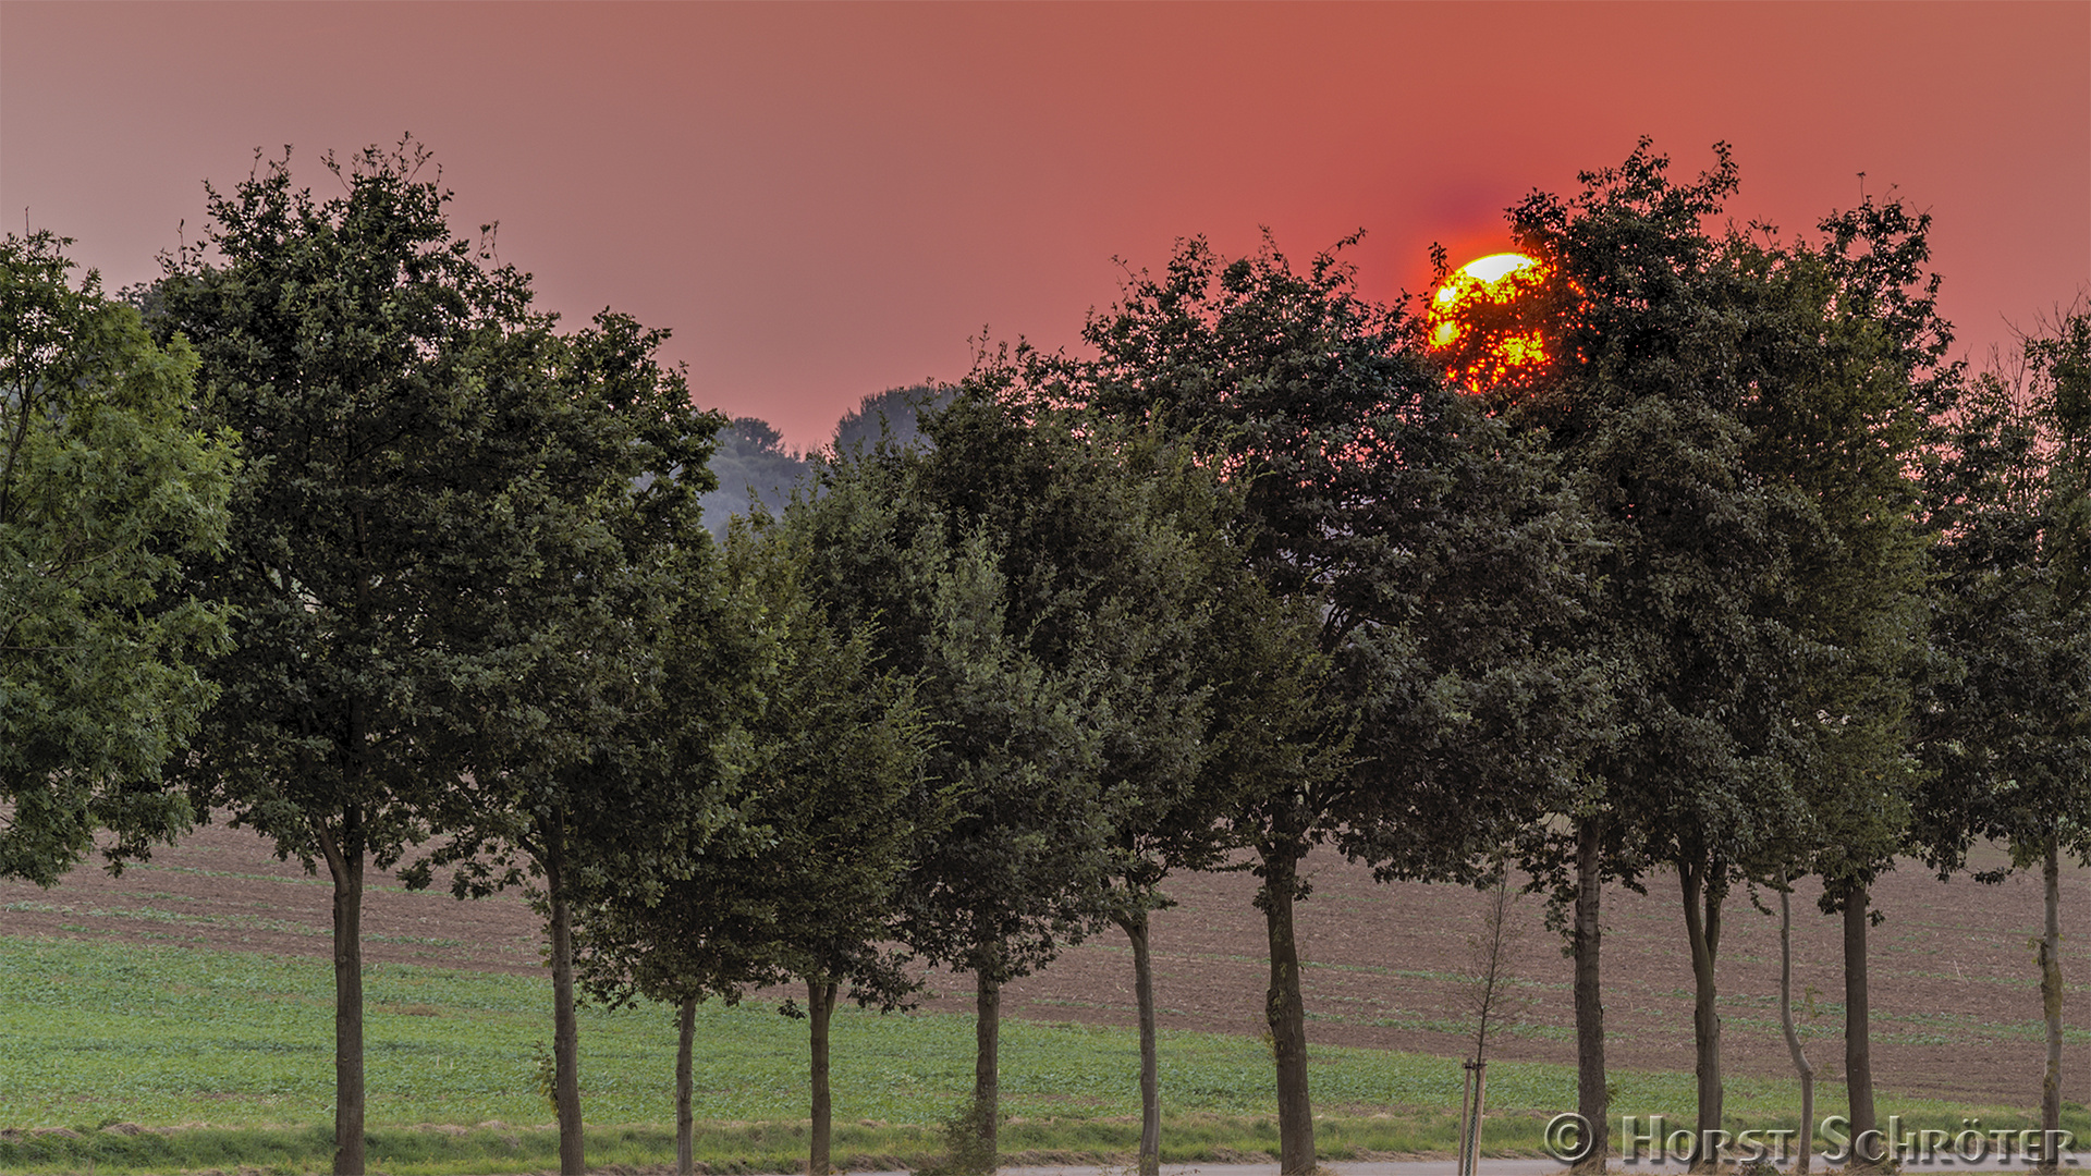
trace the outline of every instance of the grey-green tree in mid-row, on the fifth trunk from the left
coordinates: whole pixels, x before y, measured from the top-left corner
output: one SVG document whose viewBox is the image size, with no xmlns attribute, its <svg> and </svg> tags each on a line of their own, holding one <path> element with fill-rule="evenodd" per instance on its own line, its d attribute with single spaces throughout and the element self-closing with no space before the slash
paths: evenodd
<svg viewBox="0 0 2091 1176">
<path fill-rule="evenodd" d="M 815 592 L 876 615 L 887 663 L 918 674 L 930 770 L 962 806 L 910 879 L 901 937 L 974 973 L 964 1168 L 993 1161 L 1002 986 L 1123 910 L 1123 816 L 1196 770 L 1204 732 L 1188 665 L 1209 586 L 1179 481 L 1204 475 L 1022 404 L 1016 379 L 1006 356 L 983 364 L 926 450 L 838 458 L 807 504 Z"/>
</svg>

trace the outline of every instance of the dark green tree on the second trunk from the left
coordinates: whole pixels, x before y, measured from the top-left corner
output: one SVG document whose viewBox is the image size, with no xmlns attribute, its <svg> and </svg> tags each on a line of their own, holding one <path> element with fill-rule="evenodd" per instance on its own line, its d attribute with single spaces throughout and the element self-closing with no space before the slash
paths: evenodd
<svg viewBox="0 0 2091 1176">
<path fill-rule="evenodd" d="M 537 333 L 533 368 L 558 406 L 539 465 L 506 500 L 510 575 L 464 601 L 466 647 L 498 674 L 450 684 L 475 722 L 443 732 L 468 774 L 431 812 L 443 845 L 410 885 L 456 866 L 460 898 L 523 885 L 550 933 L 560 1170 L 585 1170 L 573 906 L 617 879 L 652 894 L 736 812 L 713 772 L 740 647 L 700 496 L 717 416 L 690 404 L 665 331 L 602 312 Z"/>
</svg>

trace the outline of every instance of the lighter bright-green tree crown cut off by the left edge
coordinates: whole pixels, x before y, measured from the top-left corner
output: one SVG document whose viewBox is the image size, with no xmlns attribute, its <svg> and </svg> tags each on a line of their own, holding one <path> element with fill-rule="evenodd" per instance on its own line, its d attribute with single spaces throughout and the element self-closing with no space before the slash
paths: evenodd
<svg viewBox="0 0 2091 1176">
<path fill-rule="evenodd" d="M 54 885 L 94 831 L 111 866 L 169 841 L 165 791 L 213 697 L 226 607 L 182 565 L 226 536 L 232 444 L 192 419 L 197 356 L 75 289 L 71 241 L 0 241 L 0 877 Z"/>
</svg>

